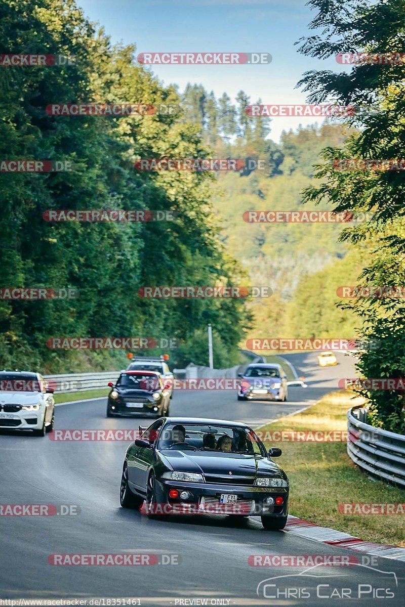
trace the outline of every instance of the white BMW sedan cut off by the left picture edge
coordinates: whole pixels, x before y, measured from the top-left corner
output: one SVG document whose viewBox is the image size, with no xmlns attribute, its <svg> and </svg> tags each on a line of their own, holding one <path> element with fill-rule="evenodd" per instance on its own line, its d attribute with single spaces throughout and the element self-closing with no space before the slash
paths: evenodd
<svg viewBox="0 0 405 607">
<path fill-rule="evenodd" d="M 45 436 L 53 430 L 55 399 L 39 373 L 0 371 L 0 430 L 32 430 Z"/>
</svg>

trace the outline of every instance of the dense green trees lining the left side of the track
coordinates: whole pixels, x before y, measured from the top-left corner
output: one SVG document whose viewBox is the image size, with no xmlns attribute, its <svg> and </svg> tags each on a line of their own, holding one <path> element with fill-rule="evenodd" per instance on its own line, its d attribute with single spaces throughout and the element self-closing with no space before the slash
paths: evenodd
<svg viewBox="0 0 405 607">
<path fill-rule="evenodd" d="M 52 351 L 52 336 L 176 337 L 187 344 L 208 322 L 219 365 L 235 356 L 248 324 L 238 300 L 143 300 L 144 285 L 240 283 L 217 236 L 207 174 L 140 173 L 137 158 L 205 157 L 200 129 L 172 115 L 52 117 L 50 103 L 172 103 L 180 99 L 111 46 L 72 0 L 6 0 L 0 36 L 9 52 L 61 53 L 63 67 L 0 71 L 1 158 L 69 160 L 72 172 L 1 174 L 0 284 L 75 287 L 70 300 L 0 301 L 1 367 L 70 371 L 114 366 L 123 353 Z M 194 96 L 213 128 L 213 98 Z M 209 105 L 211 103 L 211 106 Z M 47 209 L 165 209 L 173 222 L 47 223 Z M 194 356 L 198 360 L 198 352 Z M 172 362 L 175 364 L 175 351 Z M 223 356 L 223 359 L 221 358 Z M 121 362 L 120 362 L 121 366 Z"/>
</svg>

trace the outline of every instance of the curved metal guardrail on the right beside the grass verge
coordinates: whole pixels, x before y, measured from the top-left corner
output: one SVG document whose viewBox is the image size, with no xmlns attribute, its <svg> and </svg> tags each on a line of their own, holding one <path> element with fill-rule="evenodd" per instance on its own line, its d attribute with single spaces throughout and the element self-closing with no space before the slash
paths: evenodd
<svg viewBox="0 0 405 607">
<path fill-rule="evenodd" d="M 357 466 L 379 480 L 405 487 L 405 436 L 360 421 L 361 407 L 347 412 L 347 453 Z"/>
</svg>

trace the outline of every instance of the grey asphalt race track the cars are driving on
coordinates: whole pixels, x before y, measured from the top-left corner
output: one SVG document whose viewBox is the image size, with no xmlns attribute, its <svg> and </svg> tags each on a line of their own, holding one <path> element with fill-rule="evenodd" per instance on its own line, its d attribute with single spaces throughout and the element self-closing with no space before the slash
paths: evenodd
<svg viewBox="0 0 405 607">
<path fill-rule="evenodd" d="M 290 402 L 238 402 L 234 393 L 225 391 L 182 392 L 175 393 L 171 414 L 233 419 L 257 427 L 278 415 L 302 409 L 336 388 L 339 378 L 353 376 L 352 360 L 342 354 L 338 354 L 339 365 L 325 369 L 316 366 L 313 353 L 286 358 L 296 365 L 298 374 L 304 375 L 308 384 L 308 388 L 290 388 Z M 106 399 L 99 399 L 60 406 L 56 409 L 56 427 L 134 429 L 145 423 L 141 418 L 107 419 L 105 405 Z M 157 521 L 140 512 L 121 509 L 118 492 L 126 446 L 118 441 L 73 443 L 17 433 L 0 435 L 2 504 L 80 507 L 77 515 L 0 517 L 0 599 L 132 597 L 139 598 L 140 605 L 156 606 L 323 607 L 326 597 L 330 597 L 326 604 L 333 607 L 403 605 L 404 563 L 379 558 L 371 569 L 369 563 L 321 566 L 305 575 L 302 568 L 255 567 L 248 564 L 251 555 L 353 557 L 358 553 L 285 532 L 264 531 L 256 518 L 234 522 L 220 516 L 172 517 L 171 521 Z M 95 553 L 155 554 L 158 564 L 48 563 L 50 554 Z M 170 564 L 166 565 L 167 560 Z M 267 578 L 285 575 L 288 577 L 260 585 Z M 278 598 L 270 598 L 277 595 Z M 205 599 L 207 603 L 203 602 Z M 114 605 L 112 601 L 109 604 Z"/>
</svg>

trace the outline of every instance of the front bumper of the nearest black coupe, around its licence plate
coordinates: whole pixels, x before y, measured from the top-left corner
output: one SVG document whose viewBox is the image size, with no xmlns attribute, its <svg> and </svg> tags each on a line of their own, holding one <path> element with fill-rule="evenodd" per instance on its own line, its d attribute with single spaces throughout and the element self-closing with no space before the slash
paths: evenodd
<svg viewBox="0 0 405 607">
<path fill-rule="evenodd" d="M 286 517 L 288 514 L 288 494 L 289 487 L 256 487 L 256 486 L 231 486 L 230 484 L 219 483 L 181 483 L 161 479 L 157 481 L 161 503 L 169 506 L 177 506 L 175 511 L 181 513 L 180 504 L 185 510 L 186 504 L 191 504 L 191 514 L 233 514 L 241 516 L 262 516 Z M 177 489 L 188 491 L 191 495 L 187 500 L 179 498 L 172 500 L 169 498 L 169 490 Z M 237 495 L 237 503 L 219 504 L 219 498 L 222 493 Z M 282 497 L 283 503 L 268 505 L 265 503 L 267 497 Z M 216 502 L 218 501 L 218 508 Z M 230 507 L 227 507 L 230 506 Z M 188 514 L 185 512 L 185 514 Z"/>
</svg>

